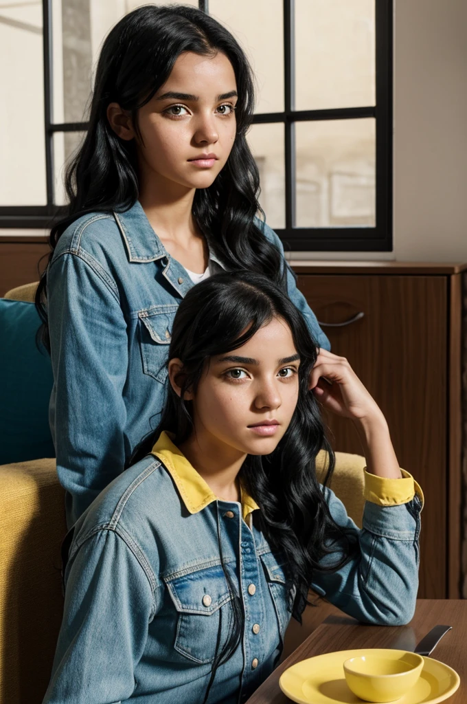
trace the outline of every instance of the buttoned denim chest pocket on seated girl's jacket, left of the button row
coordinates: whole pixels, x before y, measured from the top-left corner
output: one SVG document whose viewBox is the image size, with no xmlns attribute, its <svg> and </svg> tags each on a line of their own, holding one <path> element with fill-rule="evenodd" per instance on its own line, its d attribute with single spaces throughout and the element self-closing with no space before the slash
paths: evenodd
<svg viewBox="0 0 467 704">
<path fill-rule="evenodd" d="M 195 662 L 212 662 L 218 637 L 220 648 L 231 618 L 231 593 L 221 565 L 166 579 L 165 584 L 178 616 L 175 650 Z"/>
</svg>

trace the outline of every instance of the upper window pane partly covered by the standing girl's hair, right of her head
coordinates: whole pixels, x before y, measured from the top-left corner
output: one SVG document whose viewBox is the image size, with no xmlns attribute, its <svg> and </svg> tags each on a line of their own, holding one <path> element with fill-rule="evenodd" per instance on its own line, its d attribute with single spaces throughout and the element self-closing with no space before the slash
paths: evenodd
<svg viewBox="0 0 467 704">
<path fill-rule="evenodd" d="M 210 0 L 209 11 L 248 56 L 257 84 L 255 112 L 283 111 L 282 0 Z"/>
</svg>

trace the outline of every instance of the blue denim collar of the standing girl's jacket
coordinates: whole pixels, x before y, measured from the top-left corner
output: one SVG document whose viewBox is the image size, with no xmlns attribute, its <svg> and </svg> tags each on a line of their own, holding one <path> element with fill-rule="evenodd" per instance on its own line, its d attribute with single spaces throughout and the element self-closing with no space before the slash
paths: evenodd
<svg viewBox="0 0 467 704">
<path fill-rule="evenodd" d="M 151 227 L 151 223 L 139 201 L 136 201 L 124 213 L 115 213 L 114 211 L 113 215 L 122 233 L 129 262 L 153 262 L 163 257 L 169 260 L 169 253 L 154 232 L 153 227 Z M 225 269 L 225 266 L 212 253 L 211 249 L 209 258 L 217 263 L 220 268 Z"/>
</svg>

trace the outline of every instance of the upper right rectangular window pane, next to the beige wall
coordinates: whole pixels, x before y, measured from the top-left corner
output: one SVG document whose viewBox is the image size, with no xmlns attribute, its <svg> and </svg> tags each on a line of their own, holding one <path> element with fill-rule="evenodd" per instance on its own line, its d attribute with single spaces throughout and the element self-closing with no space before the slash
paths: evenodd
<svg viewBox="0 0 467 704">
<path fill-rule="evenodd" d="M 295 109 L 373 106 L 376 0 L 295 0 Z"/>
</svg>

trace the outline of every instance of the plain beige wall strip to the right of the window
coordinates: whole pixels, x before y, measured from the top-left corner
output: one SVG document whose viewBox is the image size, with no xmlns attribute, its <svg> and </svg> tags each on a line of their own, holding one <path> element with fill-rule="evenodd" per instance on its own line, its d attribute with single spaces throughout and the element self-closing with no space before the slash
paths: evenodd
<svg viewBox="0 0 467 704">
<path fill-rule="evenodd" d="M 395 256 L 467 261 L 467 2 L 395 9 Z"/>
</svg>

